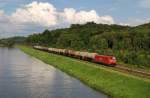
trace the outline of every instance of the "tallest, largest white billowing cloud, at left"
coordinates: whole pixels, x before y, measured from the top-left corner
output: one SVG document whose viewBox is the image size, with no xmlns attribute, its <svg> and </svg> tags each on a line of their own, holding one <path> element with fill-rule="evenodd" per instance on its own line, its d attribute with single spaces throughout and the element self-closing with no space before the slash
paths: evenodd
<svg viewBox="0 0 150 98">
<path fill-rule="evenodd" d="M 18 8 L 12 14 L 12 20 L 19 23 L 33 23 L 42 26 L 57 24 L 56 9 L 49 3 L 32 2 L 24 8 Z"/>
</svg>

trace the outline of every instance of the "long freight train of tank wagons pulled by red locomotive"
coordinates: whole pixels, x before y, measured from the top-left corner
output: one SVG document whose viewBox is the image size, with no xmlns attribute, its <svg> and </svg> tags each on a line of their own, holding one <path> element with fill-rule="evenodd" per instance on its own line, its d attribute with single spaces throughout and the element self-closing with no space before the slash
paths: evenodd
<svg viewBox="0 0 150 98">
<path fill-rule="evenodd" d="M 115 66 L 117 63 L 117 60 L 114 56 L 99 55 L 98 53 L 81 52 L 81 51 L 74 51 L 68 49 L 47 48 L 42 46 L 33 46 L 33 48 L 42 51 L 47 51 L 50 53 L 74 57 L 81 60 L 101 63 L 109 66 Z"/>
</svg>

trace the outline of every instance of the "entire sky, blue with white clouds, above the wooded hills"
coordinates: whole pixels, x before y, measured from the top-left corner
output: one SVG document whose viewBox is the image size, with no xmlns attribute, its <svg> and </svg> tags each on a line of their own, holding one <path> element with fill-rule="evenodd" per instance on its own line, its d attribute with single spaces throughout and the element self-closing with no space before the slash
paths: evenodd
<svg viewBox="0 0 150 98">
<path fill-rule="evenodd" d="M 0 0 L 0 38 L 95 22 L 150 22 L 150 0 Z"/>
</svg>

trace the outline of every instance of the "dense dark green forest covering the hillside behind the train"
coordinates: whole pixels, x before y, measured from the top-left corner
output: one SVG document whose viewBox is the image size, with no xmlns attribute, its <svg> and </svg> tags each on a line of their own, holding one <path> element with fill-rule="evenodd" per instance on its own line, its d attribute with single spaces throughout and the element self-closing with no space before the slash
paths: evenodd
<svg viewBox="0 0 150 98">
<path fill-rule="evenodd" d="M 30 35 L 26 43 L 114 55 L 121 63 L 150 68 L 150 23 L 134 27 L 93 22 L 72 24 L 69 28 Z"/>
</svg>

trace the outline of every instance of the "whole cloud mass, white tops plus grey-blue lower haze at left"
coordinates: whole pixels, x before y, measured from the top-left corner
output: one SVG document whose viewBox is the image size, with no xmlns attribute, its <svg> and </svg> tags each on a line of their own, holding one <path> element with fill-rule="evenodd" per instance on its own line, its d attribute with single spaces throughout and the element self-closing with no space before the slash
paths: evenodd
<svg viewBox="0 0 150 98">
<path fill-rule="evenodd" d="M 63 11 L 58 11 L 50 3 L 36 1 L 17 8 L 10 15 L 0 10 L 0 22 L 1 36 L 25 35 L 47 28 L 56 29 L 86 22 L 115 23 L 111 16 L 100 16 L 95 10 L 76 11 L 74 8 L 65 8 Z"/>
</svg>

